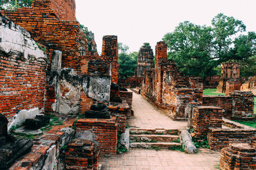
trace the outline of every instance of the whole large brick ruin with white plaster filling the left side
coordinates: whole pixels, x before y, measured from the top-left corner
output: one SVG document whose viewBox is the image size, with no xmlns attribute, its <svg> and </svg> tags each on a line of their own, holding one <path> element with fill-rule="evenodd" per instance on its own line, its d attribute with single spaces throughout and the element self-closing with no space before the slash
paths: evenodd
<svg viewBox="0 0 256 170">
<path fill-rule="evenodd" d="M 117 36 L 103 37 L 99 56 L 75 9 L 73 0 L 34 0 L 31 8 L 0 13 L 0 113 L 8 129 L 40 113 L 65 118 L 40 137 L 46 144 L 34 141 L 36 148 L 11 169 L 97 169 L 99 154 L 116 154 L 117 132 L 124 132 L 132 115 L 132 92 L 111 90 L 118 81 Z M 110 102 L 115 95 L 120 101 Z M 76 124 L 75 115 L 98 103 L 108 104 L 111 118 L 81 118 Z"/>
</svg>

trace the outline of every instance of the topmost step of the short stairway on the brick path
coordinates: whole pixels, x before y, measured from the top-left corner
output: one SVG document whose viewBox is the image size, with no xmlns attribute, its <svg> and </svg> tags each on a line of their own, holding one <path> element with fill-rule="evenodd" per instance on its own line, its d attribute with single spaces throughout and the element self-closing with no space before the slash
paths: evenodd
<svg viewBox="0 0 256 170">
<path fill-rule="evenodd" d="M 180 134 L 179 129 L 137 129 L 131 128 L 130 134 Z"/>
</svg>

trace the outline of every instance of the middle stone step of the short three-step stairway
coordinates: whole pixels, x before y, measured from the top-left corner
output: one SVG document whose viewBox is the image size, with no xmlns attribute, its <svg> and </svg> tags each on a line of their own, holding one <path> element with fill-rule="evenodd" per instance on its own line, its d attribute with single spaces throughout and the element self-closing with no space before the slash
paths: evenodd
<svg viewBox="0 0 256 170">
<path fill-rule="evenodd" d="M 130 134 L 131 142 L 153 142 L 153 141 L 161 141 L 161 142 L 179 142 L 179 136 L 172 134 Z"/>
</svg>

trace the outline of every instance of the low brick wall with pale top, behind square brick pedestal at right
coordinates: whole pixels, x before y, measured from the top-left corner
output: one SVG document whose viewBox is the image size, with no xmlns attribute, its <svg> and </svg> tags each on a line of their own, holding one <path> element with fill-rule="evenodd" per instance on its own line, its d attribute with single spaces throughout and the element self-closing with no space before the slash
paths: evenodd
<svg viewBox="0 0 256 170">
<path fill-rule="evenodd" d="M 203 96 L 203 106 L 216 106 L 222 108 L 224 117 L 232 115 L 232 97 L 231 96 Z"/>
</svg>

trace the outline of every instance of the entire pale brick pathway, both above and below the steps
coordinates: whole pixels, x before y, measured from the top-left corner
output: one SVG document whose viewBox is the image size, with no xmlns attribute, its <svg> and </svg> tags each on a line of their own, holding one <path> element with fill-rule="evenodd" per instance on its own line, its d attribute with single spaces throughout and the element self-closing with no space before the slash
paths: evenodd
<svg viewBox="0 0 256 170">
<path fill-rule="evenodd" d="M 186 129 L 186 122 L 172 121 L 150 105 L 143 97 L 133 93 L 134 118 L 129 125 L 141 129 Z M 170 169 L 216 169 L 220 152 L 200 149 L 196 154 L 172 150 L 131 149 L 117 157 L 100 159 L 102 170 L 170 170 Z"/>
</svg>

